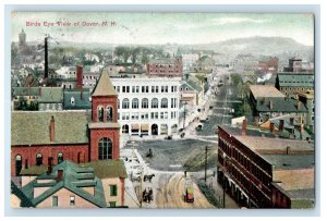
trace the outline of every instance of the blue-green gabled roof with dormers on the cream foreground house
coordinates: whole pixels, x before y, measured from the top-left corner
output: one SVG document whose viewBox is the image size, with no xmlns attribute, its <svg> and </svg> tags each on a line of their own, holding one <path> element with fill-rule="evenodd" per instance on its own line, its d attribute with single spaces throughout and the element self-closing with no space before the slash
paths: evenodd
<svg viewBox="0 0 327 221">
<path fill-rule="evenodd" d="M 62 163 L 56 165 L 53 168 L 53 172 L 48 175 L 47 173 L 43 174 L 41 176 L 46 177 L 49 176 L 51 185 L 47 183 L 37 183 L 38 179 L 34 180 L 33 182 L 25 185 L 22 191 L 25 194 L 25 196 L 28 197 L 28 199 L 32 201 L 34 206 L 37 206 L 61 188 L 66 188 L 71 191 L 72 193 L 78 195 L 80 197 L 84 198 L 85 200 L 96 205 L 97 207 L 105 208 L 106 200 L 105 200 L 105 193 L 102 187 L 102 182 L 96 176 L 93 176 L 93 179 L 83 181 L 83 173 L 81 172 L 81 169 L 77 169 L 78 165 L 70 162 L 69 160 L 63 161 Z M 63 170 L 63 179 L 62 181 L 53 180 L 53 176 L 57 177 L 58 170 Z M 76 169 L 78 170 L 78 173 L 76 172 Z M 88 169 L 86 169 L 85 174 L 88 174 Z M 43 187 L 43 186 L 50 186 L 49 189 L 45 191 L 39 196 L 35 197 L 33 196 L 34 187 Z M 93 186 L 95 187 L 95 195 L 92 195 L 81 187 L 83 186 Z"/>
</svg>

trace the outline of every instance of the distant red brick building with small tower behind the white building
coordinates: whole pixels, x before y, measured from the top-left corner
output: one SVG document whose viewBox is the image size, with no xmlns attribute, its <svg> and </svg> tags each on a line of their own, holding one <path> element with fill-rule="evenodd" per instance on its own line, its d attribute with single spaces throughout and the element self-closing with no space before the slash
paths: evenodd
<svg viewBox="0 0 327 221">
<path fill-rule="evenodd" d="M 147 64 L 147 74 L 150 77 L 182 77 L 182 54 L 179 52 L 172 59 L 162 58 L 150 60 Z"/>
</svg>

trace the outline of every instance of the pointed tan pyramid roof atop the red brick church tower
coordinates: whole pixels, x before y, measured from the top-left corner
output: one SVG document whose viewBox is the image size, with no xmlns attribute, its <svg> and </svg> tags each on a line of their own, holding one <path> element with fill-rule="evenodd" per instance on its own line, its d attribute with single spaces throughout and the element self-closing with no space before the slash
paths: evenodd
<svg viewBox="0 0 327 221">
<path fill-rule="evenodd" d="M 97 82 L 97 85 L 95 86 L 95 89 L 92 94 L 92 96 L 111 96 L 111 95 L 118 95 L 116 89 L 113 88 L 112 82 L 109 77 L 108 71 L 105 70 L 101 73 L 101 76 L 99 81 Z"/>
</svg>

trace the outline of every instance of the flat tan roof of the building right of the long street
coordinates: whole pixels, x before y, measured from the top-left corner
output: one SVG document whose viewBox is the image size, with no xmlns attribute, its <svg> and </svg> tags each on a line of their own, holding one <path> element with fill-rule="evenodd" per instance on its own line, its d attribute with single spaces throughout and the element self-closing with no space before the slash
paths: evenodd
<svg viewBox="0 0 327 221">
<path fill-rule="evenodd" d="M 280 93 L 276 87 L 272 85 L 251 85 L 250 90 L 255 99 L 257 98 L 283 98 L 284 95 Z"/>
</svg>

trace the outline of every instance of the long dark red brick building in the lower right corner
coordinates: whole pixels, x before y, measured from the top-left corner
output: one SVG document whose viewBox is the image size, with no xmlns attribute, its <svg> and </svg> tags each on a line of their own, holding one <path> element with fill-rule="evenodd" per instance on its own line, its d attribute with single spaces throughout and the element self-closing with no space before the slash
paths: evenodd
<svg viewBox="0 0 327 221">
<path fill-rule="evenodd" d="M 218 182 L 241 207 L 313 208 L 314 144 L 218 127 Z"/>
</svg>

